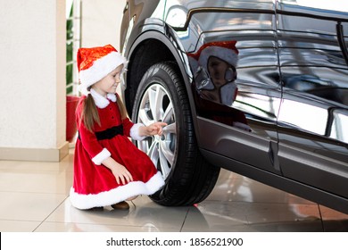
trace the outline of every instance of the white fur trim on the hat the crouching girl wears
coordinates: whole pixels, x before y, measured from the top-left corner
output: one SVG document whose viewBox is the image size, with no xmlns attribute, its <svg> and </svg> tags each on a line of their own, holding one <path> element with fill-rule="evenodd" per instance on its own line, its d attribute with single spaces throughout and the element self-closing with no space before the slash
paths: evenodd
<svg viewBox="0 0 348 250">
<path fill-rule="evenodd" d="M 79 91 L 87 96 L 87 87 L 92 86 L 100 79 L 103 79 L 111 71 L 115 70 L 120 64 L 123 63 L 123 70 L 126 71 L 127 60 L 120 53 L 112 51 L 110 54 L 106 54 L 102 58 L 95 60 L 93 65 L 84 71 L 79 71 Z"/>
</svg>

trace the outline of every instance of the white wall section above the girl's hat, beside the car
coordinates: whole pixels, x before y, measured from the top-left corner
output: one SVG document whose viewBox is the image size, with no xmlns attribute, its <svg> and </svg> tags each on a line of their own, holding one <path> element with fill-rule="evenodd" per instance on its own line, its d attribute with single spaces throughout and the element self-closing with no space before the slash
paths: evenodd
<svg viewBox="0 0 348 250">
<path fill-rule="evenodd" d="M 120 49 L 120 22 L 126 0 L 82 0 L 83 47 L 111 44 Z"/>
</svg>

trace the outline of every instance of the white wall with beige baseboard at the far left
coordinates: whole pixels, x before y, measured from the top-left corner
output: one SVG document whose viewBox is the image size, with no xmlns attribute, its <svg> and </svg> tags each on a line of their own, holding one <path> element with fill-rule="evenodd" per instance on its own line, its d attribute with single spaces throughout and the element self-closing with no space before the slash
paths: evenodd
<svg viewBox="0 0 348 250">
<path fill-rule="evenodd" d="M 67 145 L 65 1 L 0 0 L 0 17 L 0 159 L 57 160 Z"/>
</svg>

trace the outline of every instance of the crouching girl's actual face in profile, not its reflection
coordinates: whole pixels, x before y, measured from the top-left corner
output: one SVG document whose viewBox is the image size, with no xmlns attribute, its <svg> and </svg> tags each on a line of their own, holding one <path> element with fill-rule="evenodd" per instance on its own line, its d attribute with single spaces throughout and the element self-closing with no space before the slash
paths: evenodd
<svg viewBox="0 0 348 250">
<path fill-rule="evenodd" d="M 120 64 L 119 67 L 117 67 L 115 70 L 111 71 L 108 75 L 106 75 L 104 79 L 100 79 L 99 81 L 95 82 L 92 88 L 95 89 L 97 93 L 105 97 L 108 93 L 115 94 L 116 88 L 119 86 L 120 83 L 120 73 L 122 69 L 123 64 Z"/>
</svg>

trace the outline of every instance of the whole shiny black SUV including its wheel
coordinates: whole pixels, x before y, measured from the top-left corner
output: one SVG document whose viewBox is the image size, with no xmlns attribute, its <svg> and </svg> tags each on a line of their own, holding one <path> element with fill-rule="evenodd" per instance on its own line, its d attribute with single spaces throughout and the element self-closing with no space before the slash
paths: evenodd
<svg viewBox="0 0 348 250">
<path fill-rule="evenodd" d="M 154 202 L 203 201 L 222 167 L 348 213 L 348 12 L 332 5 L 127 1 L 124 102 L 169 124 L 137 142 L 166 179 Z"/>
</svg>

